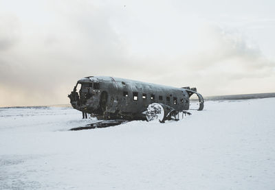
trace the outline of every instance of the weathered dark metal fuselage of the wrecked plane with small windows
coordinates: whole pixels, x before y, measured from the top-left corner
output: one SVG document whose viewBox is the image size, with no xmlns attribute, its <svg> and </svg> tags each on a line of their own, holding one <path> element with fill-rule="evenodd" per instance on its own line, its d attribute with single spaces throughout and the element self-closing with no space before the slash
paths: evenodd
<svg viewBox="0 0 275 190">
<path fill-rule="evenodd" d="M 76 88 L 81 85 L 80 91 Z M 203 97 L 194 88 L 175 88 L 159 84 L 91 76 L 78 80 L 68 95 L 72 107 L 100 119 L 146 119 L 148 105 L 158 103 L 181 112 L 189 109 L 190 96 L 199 97 L 199 110 Z"/>
</svg>

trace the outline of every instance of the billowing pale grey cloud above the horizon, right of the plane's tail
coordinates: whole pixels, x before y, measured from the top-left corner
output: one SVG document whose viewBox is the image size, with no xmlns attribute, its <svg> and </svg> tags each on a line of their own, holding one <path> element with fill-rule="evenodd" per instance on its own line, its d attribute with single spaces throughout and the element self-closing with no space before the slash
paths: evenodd
<svg viewBox="0 0 275 190">
<path fill-rule="evenodd" d="M 198 41 L 200 48 L 170 64 L 176 69 L 167 73 L 166 78 L 179 81 L 177 86 L 186 82 L 206 95 L 274 91 L 272 86 L 268 87 L 275 81 L 274 60 L 265 58 L 259 46 L 249 44 L 237 30 L 204 25 Z M 254 85 L 244 85 L 244 81 Z"/>
</svg>

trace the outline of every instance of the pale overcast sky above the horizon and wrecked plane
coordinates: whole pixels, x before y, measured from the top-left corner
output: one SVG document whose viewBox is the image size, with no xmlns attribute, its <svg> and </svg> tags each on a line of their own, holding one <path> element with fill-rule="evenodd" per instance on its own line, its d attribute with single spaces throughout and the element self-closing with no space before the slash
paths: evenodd
<svg viewBox="0 0 275 190">
<path fill-rule="evenodd" d="M 68 104 L 110 75 L 202 95 L 275 92 L 275 1 L 0 0 L 0 106 Z"/>
</svg>

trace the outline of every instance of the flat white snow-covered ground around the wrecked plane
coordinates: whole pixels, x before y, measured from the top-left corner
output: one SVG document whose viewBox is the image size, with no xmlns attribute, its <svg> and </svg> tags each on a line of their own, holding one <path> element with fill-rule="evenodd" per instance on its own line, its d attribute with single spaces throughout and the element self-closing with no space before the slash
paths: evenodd
<svg viewBox="0 0 275 190">
<path fill-rule="evenodd" d="M 275 98 L 69 131 L 72 108 L 0 108 L 0 189 L 275 189 Z"/>
</svg>

